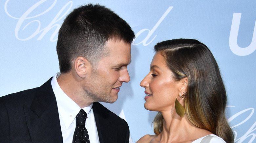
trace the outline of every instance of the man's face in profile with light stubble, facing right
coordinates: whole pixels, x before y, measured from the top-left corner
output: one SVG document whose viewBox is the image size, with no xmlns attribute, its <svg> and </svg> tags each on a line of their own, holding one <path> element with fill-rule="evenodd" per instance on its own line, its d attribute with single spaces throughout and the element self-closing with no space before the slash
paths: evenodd
<svg viewBox="0 0 256 143">
<path fill-rule="evenodd" d="M 95 102 L 114 103 L 123 82 L 129 82 L 127 65 L 131 62 L 131 44 L 122 40 L 106 42 L 108 56 L 102 57 L 96 70 L 88 75 L 84 91 Z"/>
</svg>

